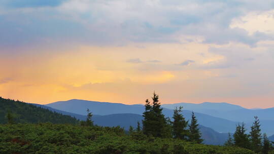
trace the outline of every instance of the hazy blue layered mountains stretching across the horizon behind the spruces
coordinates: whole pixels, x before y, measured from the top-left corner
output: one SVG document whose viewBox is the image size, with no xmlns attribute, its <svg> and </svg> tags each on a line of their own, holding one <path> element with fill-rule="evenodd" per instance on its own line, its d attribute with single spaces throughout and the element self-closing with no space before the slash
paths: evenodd
<svg viewBox="0 0 274 154">
<path fill-rule="evenodd" d="M 144 105 L 127 105 L 122 103 L 96 102 L 73 99 L 68 101 L 59 101 L 46 104 L 52 108 L 64 110 L 67 112 L 86 114 L 86 108 L 89 108 L 93 114 L 108 115 L 119 113 L 142 114 Z M 211 103 L 204 102 L 200 104 L 176 103 L 162 104 L 163 113 L 166 117 L 172 118 L 175 106 L 183 106 L 183 114 L 186 119 L 190 119 L 191 111 L 194 111 L 201 125 L 214 129 L 217 132 L 234 132 L 238 123 L 246 123 L 248 131 L 257 115 L 262 122 L 262 131 L 268 135 L 274 134 L 274 108 L 267 109 L 247 109 L 239 105 L 229 103 Z"/>
</svg>

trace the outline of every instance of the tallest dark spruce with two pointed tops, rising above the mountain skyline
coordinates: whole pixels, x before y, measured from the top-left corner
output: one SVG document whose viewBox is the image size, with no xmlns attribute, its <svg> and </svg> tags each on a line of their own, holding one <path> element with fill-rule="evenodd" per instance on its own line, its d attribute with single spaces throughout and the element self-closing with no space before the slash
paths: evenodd
<svg viewBox="0 0 274 154">
<path fill-rule="evenodd" d="M 143 113 L 143 132 L 145 135 L 152 135 L 154 137 L 169 137 L 170 132 L 167 120 L 162 113 L 159 96 L 153 93 L 153 102 L 148 99 L 145 104 L 145 112 Z M 169 135 L 168 135 L 169 134 Z"/>
</svg>

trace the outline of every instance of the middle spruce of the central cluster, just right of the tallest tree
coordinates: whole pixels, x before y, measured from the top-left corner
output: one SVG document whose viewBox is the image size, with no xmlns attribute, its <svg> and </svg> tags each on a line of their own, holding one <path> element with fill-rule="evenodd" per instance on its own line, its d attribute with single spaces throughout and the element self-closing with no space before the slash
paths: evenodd
<svg viewBox="0 0 274 154">
<path fill-rule="evenodd" d="M 179 139 L 187 139 L 189 131 L 186 129 L 188 121 L 185 120 L 183 114 L 181 114 L 183 107 L 174 109 L 172 127 L 173 127 L 173 137 Z"/>
</svg>

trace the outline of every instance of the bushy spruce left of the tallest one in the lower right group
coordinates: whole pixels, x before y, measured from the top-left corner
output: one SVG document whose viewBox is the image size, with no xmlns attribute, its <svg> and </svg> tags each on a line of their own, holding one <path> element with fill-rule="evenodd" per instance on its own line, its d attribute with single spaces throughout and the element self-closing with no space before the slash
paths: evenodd
<svg viewBox="0 0 274 154">
<path fill-rule="evenodd" d="M 243 147 L 250 149 L 250 141 L 249 141 L 249 135 L 245 133 L 245 124 L 242 123 L 242 125 L 237 125 L 235 133 L 233 134 L 234 137 L 234 145 L 238 147 Z"/>
</svg>

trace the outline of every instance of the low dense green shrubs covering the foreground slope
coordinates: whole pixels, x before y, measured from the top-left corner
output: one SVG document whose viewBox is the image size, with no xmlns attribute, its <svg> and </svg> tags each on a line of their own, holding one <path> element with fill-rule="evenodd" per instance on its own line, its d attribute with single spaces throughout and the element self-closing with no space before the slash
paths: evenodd
<svg viewBox="0 0 274 154">
<path fill-rule="evenodd" d="M 127 135 L 119 127 L 44 123 L 0 125 L 0 153 L 249 154 L 254 152 L 239 147 L 146 137 L 141 132 Z"/>
</svg>

